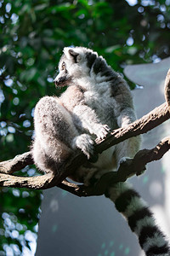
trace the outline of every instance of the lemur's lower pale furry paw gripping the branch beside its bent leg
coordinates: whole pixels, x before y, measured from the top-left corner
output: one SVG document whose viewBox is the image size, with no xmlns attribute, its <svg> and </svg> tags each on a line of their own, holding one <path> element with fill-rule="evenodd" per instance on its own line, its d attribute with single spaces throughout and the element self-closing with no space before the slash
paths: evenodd
<svg viewBox="0 0 170 256">
<path fill-rule="evenodd" d="M 94 154 L 94 141 L 88 134 L 81 134 L 74 138 L 72 143 L 73 148 L 80 148 L 83 154 L 86 154 L 88 159 Z"/>
</svg>

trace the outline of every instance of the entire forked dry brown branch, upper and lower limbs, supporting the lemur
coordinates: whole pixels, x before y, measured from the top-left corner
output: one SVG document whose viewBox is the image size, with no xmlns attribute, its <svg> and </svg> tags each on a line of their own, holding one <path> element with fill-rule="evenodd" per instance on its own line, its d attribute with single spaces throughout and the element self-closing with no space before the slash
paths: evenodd
<svg viewBox="0 0 170 256">
<path fill-rule="evenodd" d="M 139 120 L 136 120 L 132 124 L 128 125 L 126 128 L 116 129 L 111 131 L 111 133 L 104 139 L 96 139 L 95 152 L 101 153 L 105 149 L 110 148 L 111 146 L 121 143 L 130 137 L 138 136 L 139 134 L 150 131 L 158 125 L 161 125 L 164 121 L 170 118 L 170 113 L 168 111 L 168 106 L 170 102 L 170 72 L 167 73 L 167 78 L 165 82 L 165 95 L 167 102 L 163 103 L 160 107 L 155 108 L 150 113 L 144 115 Z M 133 160 L 127 161 L 126 166 L 120 166 L 120 169 L 117 172 L 109 172 L 105 174 L 99 180 L 97 187 L 97 192 L 94 192 L 94 188 L 85 188 L 83 186 L 76 186 L 72 183 L 65 182 L 65 177 L 68 177 L 72 172 L 74 172 L 77 167 L 81 166 L 85 161 L 87 161 L 86 156 L 82 153 L 74 156 L 67 165 L 61 169 L 60 173 L 56 172 L 55 174 L 44 174 L 37 177 L 18 177 L 11 175 L 11 173 L 21 170 L 27 165 L 33 164 L 31 157 L 31 152 L 26 152 L 25 154 L 20 154 L 14 157 L 13 160 L 6 160 L 0 163 L 0 186 L 3 187 L 25 187 L 30 189 L 48 189 L 53 186 L 58 186 L 62 189 L 68 190 L 69 192 L 77 195 L 101 195 L 100 193 L 105 191 L 104 187 L 107 185 L 109 180 L 116 183 L 120 181 L 125 181 L 127 177 L 132 176 L 142 172 L 145 169 L 145 165 L 151 160 L 157 160 L 161 158 L 165 152 L 169 149 L 169 138 L 161 141 L 156 148 L 144 149 L 139 151 L 134 157 Z M 150 158 L 152 156 L 152 158 Z M 138 168 L 135 168 L 138 166 Z M 140 170 L 139 170 L 140 166 Z M 121 171 L 123 169 L 123 172 Z M 109 179 L 107 177 L 110 177 Z M 106 181 L 106 182 L 105 182 Z M 80 190 L 80 188 L 82 190 Z M 99 189 L 100 188 L 100 189 Z M 76 192 L 75 192 L 76 191 Z M 79 192 L 78 192 L 79 191 Z M 81 192 L 80 192 L 81 191 Z M 85 191 L 85 192 L 82 192 Z M 104 192 L 103 192 L 104 193 Z M 102 193 L 102 194 L 103 194 Z"/>
</svg>

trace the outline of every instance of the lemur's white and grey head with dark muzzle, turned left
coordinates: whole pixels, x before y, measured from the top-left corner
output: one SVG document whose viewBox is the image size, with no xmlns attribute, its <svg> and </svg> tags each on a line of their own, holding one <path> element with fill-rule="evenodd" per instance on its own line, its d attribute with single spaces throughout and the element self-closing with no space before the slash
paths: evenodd
<svg viewBox="0 0 170 256">
<path fill-rule="evenodd" d="M 59 61 L 59 74 L 54 79 L 56 86 L 70 85 L 78 80 L 101 73 L 108 68 L 105 59 L 91 49 L 65 47 Z"/>
</svg>

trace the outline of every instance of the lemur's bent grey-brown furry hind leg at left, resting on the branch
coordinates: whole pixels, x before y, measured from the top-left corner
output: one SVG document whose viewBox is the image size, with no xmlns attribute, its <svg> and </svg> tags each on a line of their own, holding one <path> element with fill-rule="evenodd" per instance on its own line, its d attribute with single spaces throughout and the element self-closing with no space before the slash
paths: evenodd
<svg viewBox="0 0 170 256">
<path fill-rule="evenodd" d="M 42 172 L 56 172 L 73 153 L 71 148 L 78 131 L 71 114 L 57 97 L 45 96 L 34 113 L 36 137 L 33 143 L 34 161 Z"/>
</svg>

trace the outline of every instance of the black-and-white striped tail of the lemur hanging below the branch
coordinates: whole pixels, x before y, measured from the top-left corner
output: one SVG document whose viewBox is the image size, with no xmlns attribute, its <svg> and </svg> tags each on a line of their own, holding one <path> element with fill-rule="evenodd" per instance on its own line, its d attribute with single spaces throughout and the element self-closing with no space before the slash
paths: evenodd
<svg viewBox="0 0 170 256">
<path fill-rule="evenodd" d="M 169 256 L 170 247 L 153 214 L 139 194 L 128 183 L 117 183 L 105 194 L 115 203 L 118 212 L 127 219 L 131 230 L 138 236 L 140 247 L 147 256 Z"/>
</svg>

